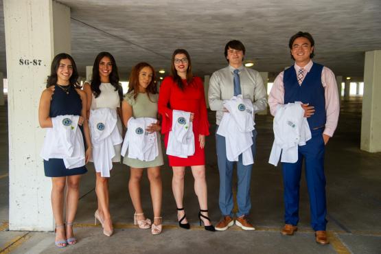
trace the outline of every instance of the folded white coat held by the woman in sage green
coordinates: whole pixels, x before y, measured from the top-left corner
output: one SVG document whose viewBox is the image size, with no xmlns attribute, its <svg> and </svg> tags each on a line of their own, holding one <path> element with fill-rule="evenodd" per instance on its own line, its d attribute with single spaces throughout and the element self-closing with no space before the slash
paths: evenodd
<svg viewBox="0 0 381 254">
<path fill-rule="evenodd" d="M 147 132 L 146 128 L 155 124 L 157 119 L 152 117 L 131 117 L 127 123 L 127 133 L 121 150 L 123 157 L 153 161 L 159 155 L 157 132 Z"/>
</svg>

